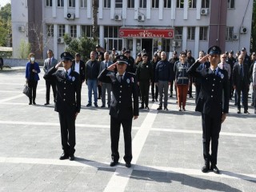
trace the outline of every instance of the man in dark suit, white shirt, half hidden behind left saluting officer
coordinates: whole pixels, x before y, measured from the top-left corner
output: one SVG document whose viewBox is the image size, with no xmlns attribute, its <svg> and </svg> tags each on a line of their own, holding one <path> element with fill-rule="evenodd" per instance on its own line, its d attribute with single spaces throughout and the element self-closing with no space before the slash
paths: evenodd
<svg viewBox="0 0 256 192">
<path fill-rule="evenodd" d="M 85 82 L 86 76 L 85 76 L 85 62 L 81 60 L 81 55 L 79 53 L 75 54 L 74 60 L 72 61 L 71 69 L 80 74 L 80 80 L 81 80 L 81 88 L 82 83 Z"/>
</svg>

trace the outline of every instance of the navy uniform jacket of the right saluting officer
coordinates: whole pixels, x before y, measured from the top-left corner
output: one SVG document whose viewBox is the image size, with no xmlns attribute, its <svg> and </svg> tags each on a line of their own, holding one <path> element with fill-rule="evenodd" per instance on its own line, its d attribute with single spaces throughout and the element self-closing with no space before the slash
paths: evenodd
<svg viewBox="0 0 256 192">
<path fill-rule="evenodd" d="M 196 111 L 202 114 L 222 114 L 229 112 L 229 78 L 226 70 L 216 68 L 213 74 L 210 68 L 197 70 L 200 62 L 195 62 L 187 73 L 194 78 L 201 79 L 201 90 L 196 105 Z M 222 102 L 222 93 L 224 99 Z"/>
</svg>

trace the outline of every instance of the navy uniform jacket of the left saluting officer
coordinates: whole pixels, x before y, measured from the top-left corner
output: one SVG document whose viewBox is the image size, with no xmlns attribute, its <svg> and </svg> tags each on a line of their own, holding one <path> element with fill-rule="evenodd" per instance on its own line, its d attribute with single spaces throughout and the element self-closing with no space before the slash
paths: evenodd
<svg viewBox="0 0 256 192">
<path fill-rule="evenodd" d="M 71 70 L 69 76 L 65 70 L 56 70 L 55 67 L 48 71 L 43 78 L 52 79 L 55 77 L 57 96 L 55 111 L 64 114 L 75 114 L 81 109 L 81 81 L 79 74 Z"/>
</svg>

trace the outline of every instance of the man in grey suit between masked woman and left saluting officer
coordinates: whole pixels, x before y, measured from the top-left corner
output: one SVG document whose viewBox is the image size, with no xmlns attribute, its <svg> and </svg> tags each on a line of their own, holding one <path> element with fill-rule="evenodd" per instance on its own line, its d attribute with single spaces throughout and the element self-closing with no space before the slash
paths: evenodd
<svg viewBox="0 0 256 192">
<path fill-rule="evenodd" d="M 56 64 L 58 63 L 57 59 L 54 58 L 54 53 L 52 50 L 47 50 L 47 56 L 48 58 L 46 58 L 44 64 L 43 64 L 43 70 L 45 71 L 45 73 L 47 74 L 48 71 L 50 70 L 50 68 L 56 66 Z M 48 79 L 46 80 L 46 103 L 45 105 L 49 105 L 50 104 L 50 86 L 54 92 L 54 102 L 56 102 L 56 84 L 55 81 L 52 79 Z"/>
</svg>

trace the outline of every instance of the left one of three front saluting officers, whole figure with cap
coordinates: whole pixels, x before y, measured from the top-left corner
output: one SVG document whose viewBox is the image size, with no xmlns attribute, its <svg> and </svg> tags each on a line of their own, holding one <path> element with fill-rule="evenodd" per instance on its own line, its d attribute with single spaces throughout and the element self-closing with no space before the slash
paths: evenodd
<svg viewBox="0 0 256 192">
<path fill-rule="evenodd" d="M 61 54 L 61 58 L 62 62 L 52 67 L 44 78 L 51 79 L 54 76 L 58 90 L 55 111 L 58 112 L 61 126 L 63 150 L 63 154 L 59 159 L 70 158 L 70 161 L 73 161 L 75 119 L 81 108 L 81 81 L 79 74 L 71 69 L 73 56 L 68 52 L 64 52 Z M 64 69 L 58 70 L 61 65 L 63 65 Z"/>
</svg>

